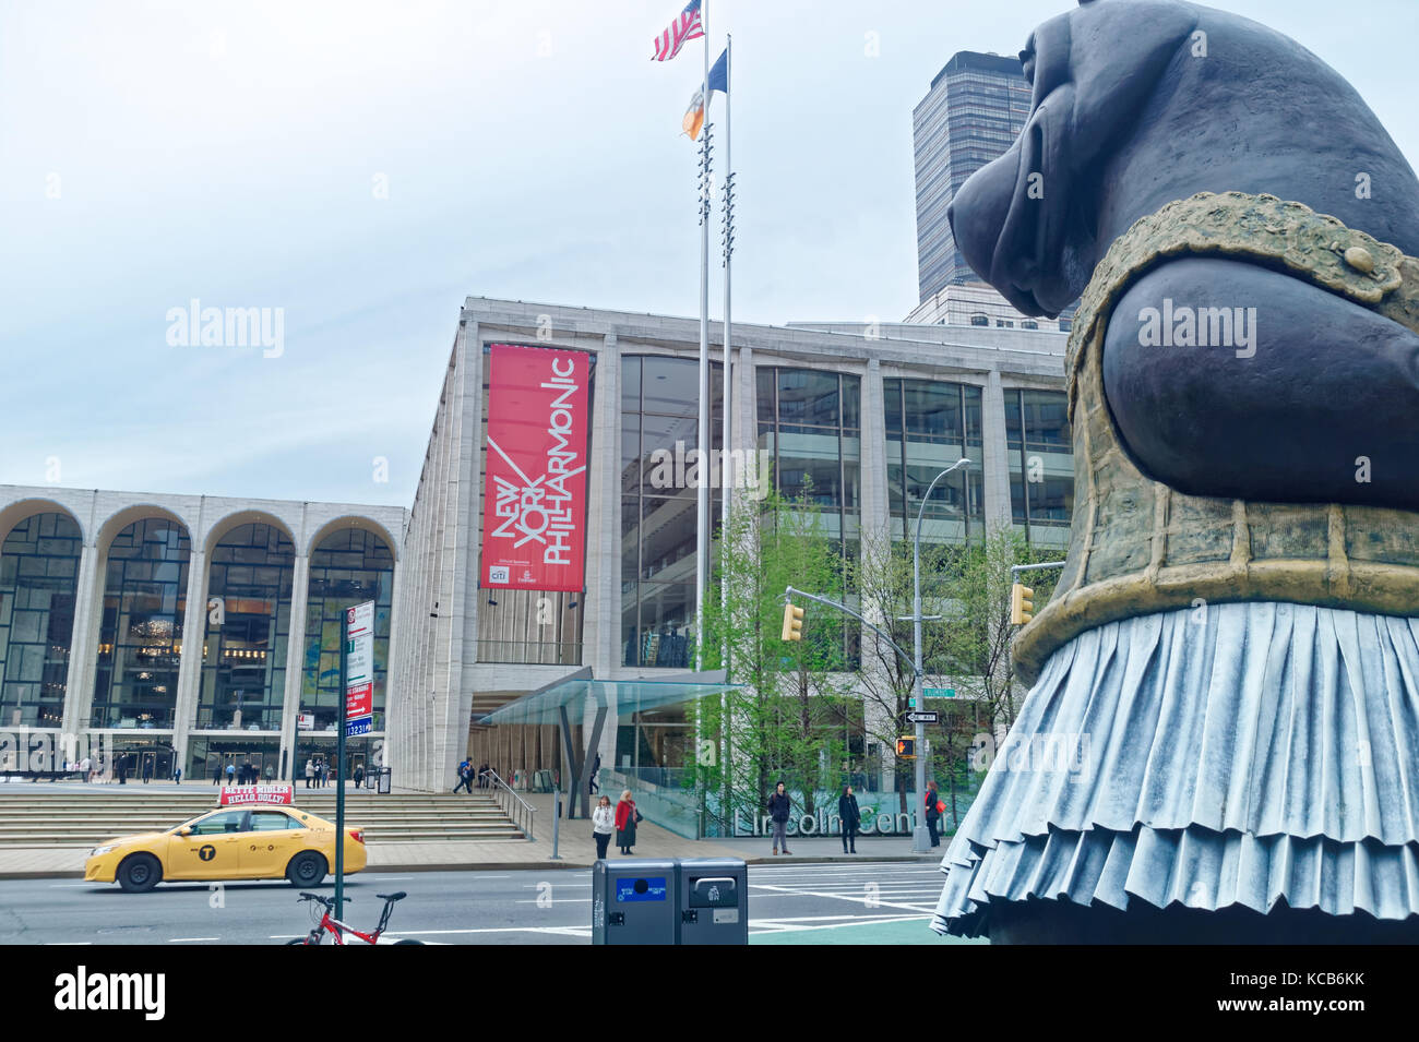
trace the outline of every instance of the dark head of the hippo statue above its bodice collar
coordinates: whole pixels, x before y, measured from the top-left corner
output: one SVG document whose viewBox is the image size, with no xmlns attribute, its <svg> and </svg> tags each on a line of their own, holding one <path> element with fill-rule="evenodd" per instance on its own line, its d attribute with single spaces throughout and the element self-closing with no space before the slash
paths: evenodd
<svg viewBox="0 0 1419 1042">
<path fill-rule="evenodd" d="M 1419 181 L 1334 69 L 1280 33 L 1183 0 L 1081 0 L 1020 52 L 1030 115 L 948 211 L 966 262 L 1057 315 L 1138 217 L 1198 191 L 1269 193 L 1419 250 Z M 1355 176 L 1385 201 L 1355 196 Z"/>
</svg>

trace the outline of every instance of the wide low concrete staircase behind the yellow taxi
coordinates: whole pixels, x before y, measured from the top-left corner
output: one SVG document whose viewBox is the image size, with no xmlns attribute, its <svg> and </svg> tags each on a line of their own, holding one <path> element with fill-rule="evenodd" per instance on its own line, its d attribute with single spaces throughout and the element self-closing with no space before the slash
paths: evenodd
<svg viewBox="0 0 1419 1042">
<path fill-rule="evenodd" d="M 115 836 L 173 828 L 216 805 L 213 785 L 0 784 L 0 848 L 94 846 Z M 333 788 L 297 785 L 295 805 L 335 821 Z M 345 824 L 365 829 L 370 845 L 526 838 L 482 792 L 377 795 L 352 788 L 345 800 Z"/>
</svg>

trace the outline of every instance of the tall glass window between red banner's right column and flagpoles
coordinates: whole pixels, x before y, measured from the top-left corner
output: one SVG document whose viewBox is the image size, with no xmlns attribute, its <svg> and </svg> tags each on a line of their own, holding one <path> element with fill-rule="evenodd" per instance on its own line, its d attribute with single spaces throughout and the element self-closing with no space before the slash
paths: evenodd
<svg viewBox="0 0 1419 1042">
<path fill-rule="evenodd" d="M 711 444 L 724 421 L 722 367 L 711 363 Z M 622 662 L 687 669 L 694 661 L 700 363 L 622 357 Z M 711 481 L 718 482 L 718 475 Z M 711 492 L 719 523 L 719 489 Z"/>
</svg>

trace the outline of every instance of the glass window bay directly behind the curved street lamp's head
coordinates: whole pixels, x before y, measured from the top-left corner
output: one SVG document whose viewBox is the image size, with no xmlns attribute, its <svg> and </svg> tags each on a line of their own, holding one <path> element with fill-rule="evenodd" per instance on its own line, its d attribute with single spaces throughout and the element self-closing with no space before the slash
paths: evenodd
<svg viewBox="0 0 1419 1042">
<path fill-rule="evenodd" d="M 921 517 L 924 542 L 964 543 L 985 536 L 985 442 L 981 388 L 932 380 L 883 380 L 887 418 L 887 499 L 893 537 L 915 537 L 921 499 L 961 456 L 972 461 L 937 482 Z"/>
</svg>

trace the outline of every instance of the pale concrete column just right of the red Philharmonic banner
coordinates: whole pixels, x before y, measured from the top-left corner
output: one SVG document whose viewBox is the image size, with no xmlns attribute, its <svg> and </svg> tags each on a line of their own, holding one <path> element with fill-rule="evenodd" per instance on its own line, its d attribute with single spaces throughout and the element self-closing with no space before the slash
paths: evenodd
<svg viewBox="0 0 1419 1042">
<path fill-rule="evenodd" d="M 607 333 L 596 354 L 590 474 L 586 483 L 586 597 L 582 661 L 599 678 L 620 665 L 620 347 Z"/>
</svg>

